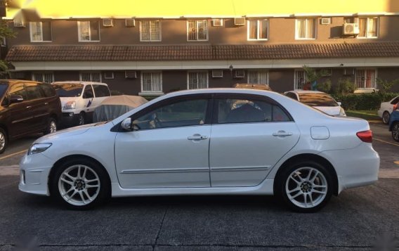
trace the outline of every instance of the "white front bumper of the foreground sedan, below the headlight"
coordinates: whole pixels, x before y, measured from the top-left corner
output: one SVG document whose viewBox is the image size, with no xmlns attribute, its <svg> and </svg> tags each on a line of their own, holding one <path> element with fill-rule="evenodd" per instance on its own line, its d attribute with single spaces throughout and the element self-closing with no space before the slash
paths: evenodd
<svg viewBox="0 0 399 251">
<path fill-rule="evenodd" d="M 25 154 L 20 161 L 20 184 L 18 188 L 25 193 L 50 195 L 48 174 L 53 167 L 52 160 L 41 153 Z"/>
</svg>

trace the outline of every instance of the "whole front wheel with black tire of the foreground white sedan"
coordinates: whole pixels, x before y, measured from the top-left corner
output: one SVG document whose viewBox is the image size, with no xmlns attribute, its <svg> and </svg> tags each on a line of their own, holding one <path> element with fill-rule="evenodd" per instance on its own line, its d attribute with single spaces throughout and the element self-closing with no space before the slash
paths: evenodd
<svg viewBox="0 0 399 251">
<path fill-rule="evenodd" d="M 50 177 L 51 196 L 72 210 L 88 210 L 110 198 L 110 179 L 93 160 L 75 158 L 56 167 Z"/>
</svg>

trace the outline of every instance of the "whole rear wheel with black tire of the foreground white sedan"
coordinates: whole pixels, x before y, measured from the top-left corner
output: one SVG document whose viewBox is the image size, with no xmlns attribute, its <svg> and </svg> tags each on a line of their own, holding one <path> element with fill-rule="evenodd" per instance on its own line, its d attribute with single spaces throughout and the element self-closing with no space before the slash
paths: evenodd
<svg viewBox="0 0 399 251">
<path fill-rule="evenodd" d="M 293 163 L 282 170 L 275 186 L 285 205 L 294 212 L 317 212 L 332 196 L 330 172 L 314 161 Z"/>
</svg>

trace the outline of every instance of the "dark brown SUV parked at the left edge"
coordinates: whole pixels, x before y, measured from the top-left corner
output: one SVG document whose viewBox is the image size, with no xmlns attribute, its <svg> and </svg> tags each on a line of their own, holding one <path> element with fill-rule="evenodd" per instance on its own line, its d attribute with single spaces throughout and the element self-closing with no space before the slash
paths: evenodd
<svg viewBox="0 0 399 251">
<path fill-rule="evenodd" d="M 51 84 L 0 79 L 0 102 L 0 153 L 9 140 L 57 130 L 61 103 Z"/>
</svg>

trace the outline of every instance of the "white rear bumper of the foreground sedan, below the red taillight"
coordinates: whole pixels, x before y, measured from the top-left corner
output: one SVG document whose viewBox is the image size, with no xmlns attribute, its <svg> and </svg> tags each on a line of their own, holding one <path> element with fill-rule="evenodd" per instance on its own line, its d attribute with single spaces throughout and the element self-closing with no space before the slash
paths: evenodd
<svg viewBox="0 0 399 251">
<path fill-rule="evenodd" d="M 347 188 L 367 186 L 378 180 L 379 155 L 371 143 L 345 150 L 327 150 L 320 153 L 332 163 L 338 176 L 338 193 Z"/>
</svg>

